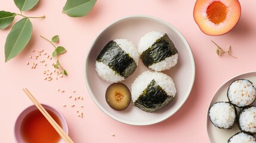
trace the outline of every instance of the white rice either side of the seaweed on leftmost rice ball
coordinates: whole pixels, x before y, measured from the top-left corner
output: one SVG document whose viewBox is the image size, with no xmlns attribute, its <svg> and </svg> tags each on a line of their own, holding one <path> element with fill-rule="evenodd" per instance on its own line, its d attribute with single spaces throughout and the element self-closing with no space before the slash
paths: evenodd
<svg viewBox="0 0 256 143">
<path fill-rule="evenodd" d="M 115 39 L 114 40 L 122 50 L 124 50 L 131 58 L 134 59 L 135 63 L 138 66 L 138 58 L 139 54 L 137 52 L 137 48 L 134 45 L 134 43 L 128 41 L 127 39 Z M 125 78 L 120 76 L 119 74 L 116 74 L 114 70 L 112 70 L 109 66 L 104 64 L 103 62 L 96 61 L 95 63 L 95 69 L 97 71 L 98 76 L 101 77 L 101 79 L 106 80 L 110 83 L 116 83 L 124 80 Z"/>
</svg>

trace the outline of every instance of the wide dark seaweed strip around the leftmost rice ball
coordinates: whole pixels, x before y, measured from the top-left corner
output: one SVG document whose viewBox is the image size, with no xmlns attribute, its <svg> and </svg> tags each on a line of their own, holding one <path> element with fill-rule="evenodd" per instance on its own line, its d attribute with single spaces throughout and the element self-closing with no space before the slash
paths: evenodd
<svg viewBox="0 0 256 143">
<path fill-rule="evenodd" d="M 134 59 L 129 57 L 115 41 L 110 41 L 104 46 L 97 57 L 97 61 L 108 65 L 112 70 L 125 78 L 131 75 L 137 67 Z"/>
</svg>

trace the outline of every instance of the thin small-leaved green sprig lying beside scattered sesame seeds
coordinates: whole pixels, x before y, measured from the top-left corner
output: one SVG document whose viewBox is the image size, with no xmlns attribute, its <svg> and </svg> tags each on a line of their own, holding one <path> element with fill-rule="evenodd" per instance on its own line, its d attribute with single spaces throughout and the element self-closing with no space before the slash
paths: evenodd
<svg viewBox="0 0 256 143">
<path fill-rule="evenodd" d="M 58 69 L 60 66 L 60 68 L 62 69 L 62 73 L 65 74 L 67 76 L 67 71 L 64 70 L 64 68 L 61 66 L 60 62 L 58 61 L 58 57 L 63 54 L 64 52 L 66 52 L 67 50 L 63 47 L 63 46 L 55 46 L 54 43 L 58 42 L 58 35 L 53 36 L 53 38 L 51 38 L 51 41 L 47 38 L 45 38 L 44 36 L 40 35 L 41 38 L 44 38 L 46 41 L 50 42 L 51 45 L 54 46 L 55 50 L 53 51 L 53 58 L 57 57 L 57 62 L 56 64 L 54 64 L 54 68 Z"/>
</svg>

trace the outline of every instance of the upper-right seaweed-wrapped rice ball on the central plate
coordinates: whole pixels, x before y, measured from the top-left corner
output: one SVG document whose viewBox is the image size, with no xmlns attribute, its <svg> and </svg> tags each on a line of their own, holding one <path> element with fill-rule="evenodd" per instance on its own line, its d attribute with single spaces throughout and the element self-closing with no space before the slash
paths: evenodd
<svg viewBox="0 0 256 143">
<path fill-rule="evenodd" d="M 166 33 L 146 33 L 138 43 L 138 53 L 144 65 L 155 71 L 169 70 L 178 62 L 178 51 Z"/>
</svg>

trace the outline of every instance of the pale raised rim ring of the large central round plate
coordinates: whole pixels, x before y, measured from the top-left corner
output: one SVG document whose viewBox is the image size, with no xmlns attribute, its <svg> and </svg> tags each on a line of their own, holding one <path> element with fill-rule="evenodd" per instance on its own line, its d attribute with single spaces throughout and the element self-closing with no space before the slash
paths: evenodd
<svg viewBox="0 0 256 143">
<path fill-rule="evenodd" d="M 184 45 L 186 47 L 189 47 L 187 48 L 188 52 L 189 52 L 189 58 L 190 58 L 190 62 L 192 63 L 192 80 L 190 82 L 190 87 L 189 89 L 187 90 L 187 93 L 186 93 L 186 98 L 184 98 L 184 101 L 181 102 L 181 105 L 180 107 L 176 108 L 176 110 L 174 110 L 174 113 L 172 114 L 168 114 L 168 116 L 165 116 L 165 117 L 162 117 L 161 119 L 157 120 L 157 121 L 150 121 L 150 122 L 143 122 L 143 123 L 135 123 L 135 122 L 126 122 L 125 120 L 122 120 L 122 119 L 118 119 L 114 116 L 112 116 L 111 113 L 109 113 L 109 111 L 107 111 L 102 105 L 100 105 L 100 103 L 97 101 L 97 99 L 95 98 L 93 92 L 92 92 L 92 89 L 90 87 L 90 83 L 88 82 L 88 60 L 89 60 L 89 55 L 91 53 L 91 49 L 92 47 L 95 45 L 95 43 L 98 41 L 98 38 L 100 38 L 100 36 L 107 30 L 107 29 L 110 29 L 112 26 L 115 26 L 115 24 L 118 24 L 118 23 L 121 23 L 122 21 L 126 21 L 126 20 L 134 20 L 134 19 L 140 19 L 140 18 L 143 18 L 143 19 L 146 19 L 146 20 L 151 20 L 151 21 L 155 21 L 157 23 L 161 23 L 161 24 L 164 24 L 165 26 L 169 27 L 170 29 L 174 30 L 174 32 L 178 35 L 179 38 L 181 38 L 181 41 L 183 41 Z M 91 45 L 90 47 L 88 48 L 87 50 L 87 54 L 85 56 L 85 61 L 84 61 L 84 79 L 85 79 L 85 84 L 87 86 L 87 90 L 90 94 L 90 97 L 92 98 L 92 100 L 94 101 L 94 103 L 97 105 L 98 108 L 100 108 L 101 111 L 103 111 L 105 114 L 107 114 L 107 116 L 111 117 L 112 119 L 118 121 L 118 122 L 121 122 L 121 123 L 125 123 L 127 125 L 135 125 L 135 126 L 146 126 L 146 125 L 153 125 L 153 124 L 156 124 L 156 123 L 159 123 L 159 122 L 162 122 L 166 119 L 168 119 L 169 117 L 171 117 L 173 114 L 177 113 L 177 111 L 183 106 L 184 102 L 187 101 L 187 98 L 189 98 L 189 95 L 190 95 L 190 92 L 192 91 L 192 88 L 193 88 L 193 85 L 194 85 L 194 82 L 195 82 L 195 74 L 196 74 L 196 66 L 195 66 L 195 59 L 194 59 L 194 56 L 193 56 L 193 52 L 192 52 L 192 49 L 190 48 L 189 46 L 189 43 L 187 42 L 186 38 L 181 34 L 181 32 L 176 29 L 174 26 L 172 26 L 172 24 L 169 24 L 167 23 L 166 21 L 164 20 L 161 20 L 159 18 L 156 18 L 156 17 L 153 17 L 153 16 L 149 16 L 149 15 L 129 15 L 129 16 L 125 16 L 125 17 L 122 17 L 122 18 L 119 18 L 118 20 L 115 20 L 113 21 L 112 23 L 108 24 L 106 27 L 104 27 L 103 30 L 100 31 L 100 33 L 98 33 L 98 35 L 94 38 L 94 40 L 91 42 Z"/>
</svg>

